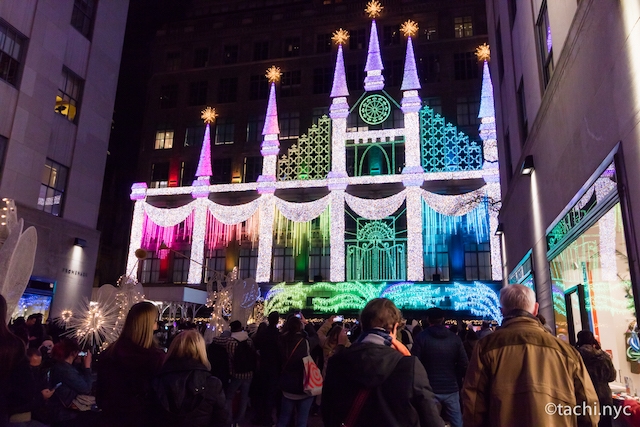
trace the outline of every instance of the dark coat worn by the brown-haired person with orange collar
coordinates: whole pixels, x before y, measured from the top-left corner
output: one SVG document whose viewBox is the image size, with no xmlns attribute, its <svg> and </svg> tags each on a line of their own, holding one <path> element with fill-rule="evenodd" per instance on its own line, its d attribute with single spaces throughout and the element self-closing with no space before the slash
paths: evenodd
<svg viewBox="0 0 640 427">
<path fill-rule="evenodd" d="M 362 389 L 370 392 L 358 427 L 444 426 L 418 358 L 370 342 L 354 343 L 331 357 L 322 388 L 324 426 L 340 426 Z"/>
</svg>

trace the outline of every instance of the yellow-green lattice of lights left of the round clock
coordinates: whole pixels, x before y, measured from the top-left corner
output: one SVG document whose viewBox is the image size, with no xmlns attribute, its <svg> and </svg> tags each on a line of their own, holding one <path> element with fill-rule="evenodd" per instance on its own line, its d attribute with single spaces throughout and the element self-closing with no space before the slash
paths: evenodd
<svg viewBox="0 0 640 427">
<path fill-rule="evenodd" d="M 278 159 L 278 179 L 324 179 L 331 168 L 331 119 L 322 116 Z"/>
</svg>

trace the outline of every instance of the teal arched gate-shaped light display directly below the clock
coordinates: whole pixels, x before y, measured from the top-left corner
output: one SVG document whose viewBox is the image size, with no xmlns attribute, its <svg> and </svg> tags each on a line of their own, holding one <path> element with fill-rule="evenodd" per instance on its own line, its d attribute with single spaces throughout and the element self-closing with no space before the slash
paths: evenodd
<svg viewBox="0 0 640 427">
<path fill-rule="evenodd" d="M 406 238 L 399 238 L 395 217 L 380 221 L 356 219 L 356 239 L 347 242 L 347 280 L 405 280 Z"/>
</svg>

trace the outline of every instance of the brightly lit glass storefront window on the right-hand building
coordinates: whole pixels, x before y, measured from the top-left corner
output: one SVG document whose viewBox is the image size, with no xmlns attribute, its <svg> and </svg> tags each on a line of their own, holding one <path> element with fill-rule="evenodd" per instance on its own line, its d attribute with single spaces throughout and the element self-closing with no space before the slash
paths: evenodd
<svg viewBox="0 0 640 427">
<path fill-rule="evenodd" d="M 640 385 L 640 352 L 620 203 L 550 261 L 556 334 L 570 343 L 590 329 L 613 358 L 617 382 Z M 633 391 L 632 391 L 633 393 Z"/>
</svg>

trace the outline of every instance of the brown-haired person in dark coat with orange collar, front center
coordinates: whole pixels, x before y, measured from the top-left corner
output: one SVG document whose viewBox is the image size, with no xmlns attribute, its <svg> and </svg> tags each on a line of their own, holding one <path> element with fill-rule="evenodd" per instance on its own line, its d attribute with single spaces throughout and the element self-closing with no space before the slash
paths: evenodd
<svg viewBox="0 0 640 427">
<path fill-rule="evenodd" d="M 386 298 L 373 299 L 362 310 L 362 334 L 327 366 L 325 427 L 444 426 L 424 367 L 395 339 L 401 320 Z"/>
</svg>

